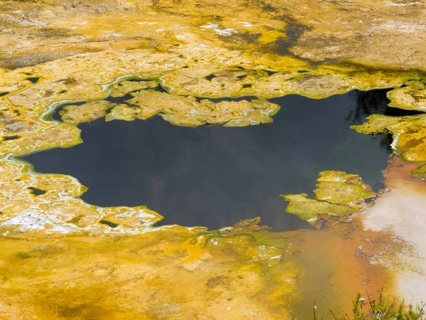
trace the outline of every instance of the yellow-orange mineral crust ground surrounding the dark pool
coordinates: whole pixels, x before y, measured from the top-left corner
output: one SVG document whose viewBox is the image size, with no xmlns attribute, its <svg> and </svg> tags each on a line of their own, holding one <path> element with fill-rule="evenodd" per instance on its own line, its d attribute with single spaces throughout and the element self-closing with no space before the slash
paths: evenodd
<svg viewBox="0 0 426 320">
<path fill-rule="evenodd" d="M 378 242 L 392 245 L 381 251 L 392 252 L 391 236 L 363 235 L 353 218 L 325 224 L 355 231 L 308 231 L 310 241 L 302 231 L 292 238 L 256 223 L 230 228 L 230 235 L 158 230 L 151 227 L 158 213 L 91 206 L 79 198 L 85 188 L 75 178 L 37 174 L 16 156 L 79 144 L 75 123 L 99 117 L 268 123 L 278 110 L 265 99 L 290 93 L 322 98 L 395 87 L 388 94 L 393 107 L 422 111 L 422 1 L 0 1 L 0 12 L 3 319 L 223 319 L 228 312 L 227 319 L 290 319 L 303 309 L 297 299 L 311 297 L 304 274 L 314 265 L 292 245 L 318 245 L 316 237 L 327 249 L 347 250 L 335 255 L 342 260 L 319 255 L 329 259 L 329 275 L 312 283 L 326 288 L 328 304 L 348 308 L 343 301 L 352 289 L 392 287 L 383 267 L 371 267 L 371 257 L 385 253 L 359 248 L 361 238 L 385 237 Z M 135 78 L 148 83 L 135 89 L 126 82 Z M 158 85 L 165 92 L 154 90 Z M 133 108 L 99 102 L 128 94 Z M 258 99 L 209 100 L 249 95 Z M 83 111 L 64 107 L 66 122 L 50 119 L 76 102 L 85 102 Z M 421 116 L 382 120 L 380 130 L 369 122 L 371 133 L 391 132 L 403 159 L 426 162 Z M 102 223 L 112 219 L 117 228 Z M 355 261 L 345 270 L 358 280 L 342 280 L 350 272 L 339 268 Z"/>
</svg>

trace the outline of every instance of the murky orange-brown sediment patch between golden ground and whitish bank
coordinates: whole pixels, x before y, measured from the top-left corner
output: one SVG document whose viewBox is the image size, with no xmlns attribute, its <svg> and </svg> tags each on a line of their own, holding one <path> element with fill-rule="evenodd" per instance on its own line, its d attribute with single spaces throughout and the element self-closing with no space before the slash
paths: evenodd
<svg viewBox="0 0 426 320">
<path fill-rule="evenodd" d="M 381 289 L 395 294 L 393 274 L 378 265 L 392 256 L 400 244 L 392 233 L 363 230 L 359 217 L 324 230 L 285 233 L 292 243 L 293 259 L 305 271 L 293 310 L 297 319 L 310 319 L 315 301 L 317 314 L 329 319 L 329 309 L 351 310 L 356 292 L 375 296 Z"/>
</svg>

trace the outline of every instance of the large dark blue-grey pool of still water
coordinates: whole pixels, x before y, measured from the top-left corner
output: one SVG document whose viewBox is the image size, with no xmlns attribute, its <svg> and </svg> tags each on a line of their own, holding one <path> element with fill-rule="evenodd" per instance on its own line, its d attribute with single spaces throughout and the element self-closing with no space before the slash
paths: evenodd
<svg viewBox="0 0 426 320">
<path fill-rule="evenodd" d="M 99 206 L 146 205 L 161 224 L 221 228 L 261 216 L 275 230 L 308 228 L 284 212 L 279 193 L 312 193 L 317 173 L 359 174 L 375 190 L 390 150 L 385 135 L 359 134 L 349 124 L 387 110 L 382 90 L 323 100 L 290 95 L 273 124 L 175 127 L 147 121 L 81 124 L 83 144 L 26 156 L 35 170 L 70 174 Z M 348 123 L 350 122 L 350 123 Z"/>
</svg>

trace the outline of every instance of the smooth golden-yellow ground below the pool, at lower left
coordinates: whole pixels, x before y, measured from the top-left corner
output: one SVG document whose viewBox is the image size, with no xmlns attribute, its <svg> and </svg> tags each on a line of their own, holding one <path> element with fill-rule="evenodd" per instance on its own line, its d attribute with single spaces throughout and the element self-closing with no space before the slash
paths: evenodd
<svg viewBox="0 0 426 320">
<path fill-rule="evenodd" d="M 274 237 L 280 249 L 271 249 L 262 238 L 214 245 L 208 233 L 178 227 L 114 238 L 8 237 L 1 302 L 21 309 L 20 319 L 291 319 L 302 270 L 271 264 L 291 255 L 288 240 Z M 2 314 L 12 319 L 13 308 Z"/>
</svg>

